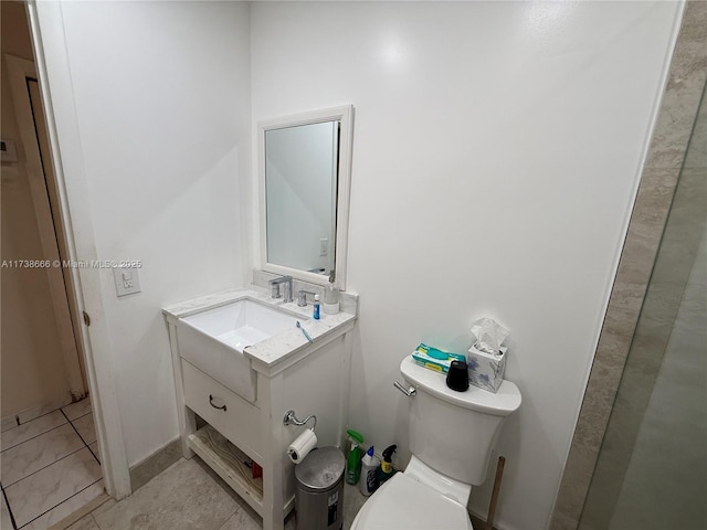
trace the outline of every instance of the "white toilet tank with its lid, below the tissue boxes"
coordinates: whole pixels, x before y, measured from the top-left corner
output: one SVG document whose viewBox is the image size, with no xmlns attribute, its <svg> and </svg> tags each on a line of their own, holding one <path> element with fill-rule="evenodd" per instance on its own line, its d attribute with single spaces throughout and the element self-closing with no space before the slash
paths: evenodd
<svg viewBox="0 0 707 530">
<path fill-rule="evenodd" d="M 410 400 L 410 451 L 433 469 L 466 484 L 486 479 L 492 451 L 504 421 L 520 406 L 520 391 L 504 381 L 497 393 L 469 386 L 456 392 L 445 374 L 400 363 L 403 378 L 416 389 Z"/>
</svg>

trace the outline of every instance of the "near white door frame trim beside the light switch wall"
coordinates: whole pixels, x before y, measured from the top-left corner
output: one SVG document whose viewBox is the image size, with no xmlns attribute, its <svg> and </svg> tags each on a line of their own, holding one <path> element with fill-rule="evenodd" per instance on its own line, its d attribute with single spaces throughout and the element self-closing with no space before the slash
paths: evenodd
<svg viewBox="0 0 707 530">
<path fill-rule="evenodd" d="M 66 258 L 96 263 L 93 213 L 85 174 L 76 104 L 65 43 L 61 2 L 25 3 L 34 62 L 46 119 L 52 166 L 56 181 Z M 104 485 L 122 499 L 130 494 L 130 477 L 115 382 L 113 347 L 106 324 L 101 285 L 106 271 L 71 267 L 70 296 L 84 322 L 80 326 L 86 378 L 92 396 Z"/>
</svg>

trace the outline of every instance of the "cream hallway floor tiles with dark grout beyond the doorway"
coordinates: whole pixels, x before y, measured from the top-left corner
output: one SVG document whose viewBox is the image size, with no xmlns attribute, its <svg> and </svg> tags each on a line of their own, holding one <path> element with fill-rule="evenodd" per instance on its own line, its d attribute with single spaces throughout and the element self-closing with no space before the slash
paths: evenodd
<svg viewBox="0 0 707 530">
<path fill-rule="evenodd" d="M 1 530 L 45 530 L 103 494 L 91 399 L 2 432 Z"/>
</svg>

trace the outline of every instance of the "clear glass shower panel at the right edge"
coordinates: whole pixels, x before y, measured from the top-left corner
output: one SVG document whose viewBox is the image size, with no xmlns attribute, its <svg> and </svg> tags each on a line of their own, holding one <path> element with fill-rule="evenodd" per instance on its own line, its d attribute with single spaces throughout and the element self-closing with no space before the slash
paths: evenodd
<svg viewBox="0 0 707 530">
<path fill-rule="evenodd" d="M 706 226 L 703 93 L 580 530 L 707 529 Z"/>
</svg>

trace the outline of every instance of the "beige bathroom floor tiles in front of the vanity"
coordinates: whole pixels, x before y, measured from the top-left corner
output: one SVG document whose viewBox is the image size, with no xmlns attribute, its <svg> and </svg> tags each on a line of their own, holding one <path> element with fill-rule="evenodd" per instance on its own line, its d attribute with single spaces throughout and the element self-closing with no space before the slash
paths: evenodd
<svg viewBox="0 0 707 530">
<path fill-rule="evenodd" d="M 344 529 L 362 506 L 356 487 L 346 486 Z M 194 456 L 179 459 L 119 502 L 110 499 L 66 530 L 260 530 L 262 519 Z M 295 530 L 291 516 L 285 530 Z"/>
</svg>

